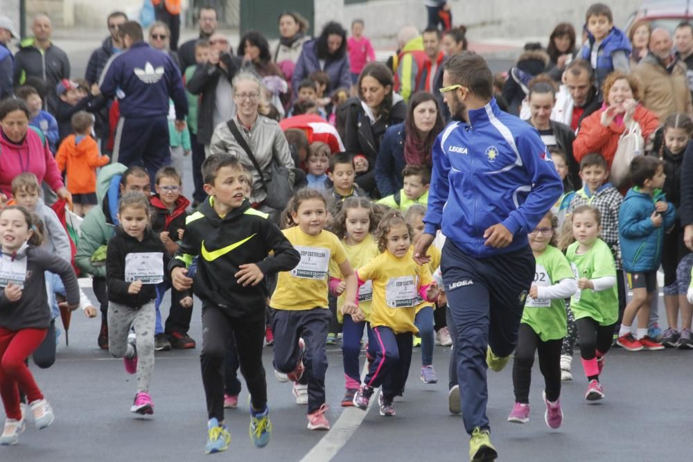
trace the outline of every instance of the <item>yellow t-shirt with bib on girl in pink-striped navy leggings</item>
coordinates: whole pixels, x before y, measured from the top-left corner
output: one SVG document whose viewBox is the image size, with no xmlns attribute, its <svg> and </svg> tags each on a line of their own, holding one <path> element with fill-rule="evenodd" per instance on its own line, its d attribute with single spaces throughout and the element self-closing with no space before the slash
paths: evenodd
<svg viewBox="0 0 693 462">
<path fill-rule="evenodd" d="M 428 265 L 414 263 L 412 249 L 402 258 L 385 251 L 356 274 L 361 281 L 373 281 L 371 327 L 387 326 L 396 334 L 419 332 L 414 326 L 416 308 L 430 305 L 421 301 L 419 288 L 433 278 Z"/>
</svg>

